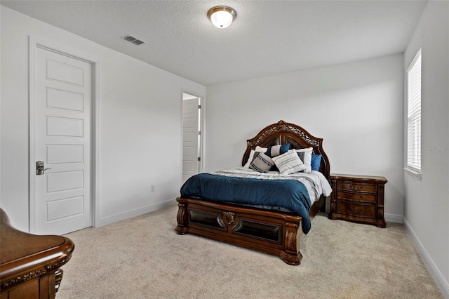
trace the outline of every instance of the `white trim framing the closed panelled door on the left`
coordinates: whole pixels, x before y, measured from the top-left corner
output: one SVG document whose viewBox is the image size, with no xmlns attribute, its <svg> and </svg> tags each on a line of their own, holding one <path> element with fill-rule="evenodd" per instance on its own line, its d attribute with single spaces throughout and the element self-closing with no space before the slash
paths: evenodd
<svg viewBox="0 0 449 299">
<path fill-rule="evenodd" d="M 98 204 L 98 200 L 100 199 L 100 191 L 99 191 L 99 184 L 98 184 L 98 169 L 100 166 L 100 159 L 99 159 L 99 61 L 97 58 L 93 58 L 90 55 L 87 55 L 85 53 L 79 53 L 77 51 L 74 51 L 73 49 L 65 48 L 63 46 L 60 46 L 59 44 L 54 44 L 51 41 L 44 41 L 41 39 L 37 39 L 34 36 L 29 35 L 29 68 L 28 68 L 28 79 L 29 79 L 29 86 L 28 86 L 28 105 L 29 105 L 29 153 L 28 153 L 28 159 L 29 159 L 29 185 L 28 185 L 28 200 L 29 200 L 29 226 L 28 230 L 29 232 L 34 232 L 36 229 L 36 219 L 34 217 L 35 211 L 36 211 L 36 200 L 35 200 L 35 189 L 34 189 L 34 182 L 36 180 L 35 173 L 35 166 L 34 161 L 35 154 L 34 154 L 34 138 L 35 134 L 33 131 L 34 128 L 34 57 L 35 57 L 35 49 L 36 47 L 45 48 L 48 51 L 54 51 L 55 53 L 62 53 L 63 55 L 69 55 L 73 58 L 76 58 L 78 60 L 83 60 L 85 62 L 88 62 L 91 64 L 91 72 L 92 72 L 92 98 L 91 98 L 91 222 L 92 226 L 95 227 L 95 224 L 98 220 L 98 211 L 96 211 L 96 207 L 100 206 Z M 33 149 L 33 150 L 32 150 Z"/>
</svg>

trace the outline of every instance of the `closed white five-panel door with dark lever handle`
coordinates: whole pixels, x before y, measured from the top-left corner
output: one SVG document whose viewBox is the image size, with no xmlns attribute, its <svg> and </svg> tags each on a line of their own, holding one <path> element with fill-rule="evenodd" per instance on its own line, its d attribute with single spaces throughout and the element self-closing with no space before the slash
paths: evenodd
<svg viewBox="0 0 449 299">
<path fill-rule="evenodd" d="M 31 232 L 66 234 L 90 227 L 91 63 L 37 46 L 33 98 L 34 148 L 30 151 L 49 169 L 34 173 L 31 180 Z"/>
</svg>

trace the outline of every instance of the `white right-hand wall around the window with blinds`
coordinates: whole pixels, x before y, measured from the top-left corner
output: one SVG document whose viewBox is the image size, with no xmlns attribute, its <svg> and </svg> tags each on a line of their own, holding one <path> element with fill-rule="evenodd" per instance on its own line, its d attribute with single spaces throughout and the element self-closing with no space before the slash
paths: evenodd
<svg viewBox="0 0 449 299">
<path fill-rule="evenodd" d="M 404 174 L 404 222 L 449 298 L 449 2 L 429 1 L 404 54 L 422 48 L 422 180 Z"/>
</svg>

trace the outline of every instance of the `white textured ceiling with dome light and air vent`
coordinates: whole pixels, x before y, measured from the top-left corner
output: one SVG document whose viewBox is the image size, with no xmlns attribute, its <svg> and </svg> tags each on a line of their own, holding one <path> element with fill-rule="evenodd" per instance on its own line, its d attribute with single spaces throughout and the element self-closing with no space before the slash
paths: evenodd
<svg viewBox="0 0 449 299">
<path fill-rule="evenodd" d="M 403 53 L 427 1 L 5 1 L 1 4 L 210 86 Z M 210 8 L 237 13 L 213 27 Z M 121 39 L 132 34 L 147 44 Z"/>
</svg>

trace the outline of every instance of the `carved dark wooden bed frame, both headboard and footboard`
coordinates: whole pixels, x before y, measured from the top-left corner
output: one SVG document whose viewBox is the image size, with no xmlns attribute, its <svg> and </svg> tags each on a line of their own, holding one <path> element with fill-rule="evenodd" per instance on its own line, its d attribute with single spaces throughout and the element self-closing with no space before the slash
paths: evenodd
<svg viewBox="0 0 449 299">
<path fill-rule="evenodd" d="M 316 138 L 304 128 L 279 121 L 247 140 L 242 166 L 246 164 L 251 150 L 257 145 L 269 147 L 290 143 L 292 148 L 312 147 L 314 154 L 321 154 L 320 171 L 328 178 L 329 160 L 324 152 L 322 138 Z M 260 208 L 217 203 L 205 199 L 177 197 L 177 234 L 196 234 L 201 237 L 223 241 L 262 253 L 279 256 L 288 265 L 300 265 L 301 217 L 295 213 L 268 211 Z M 310 211 L 311 219 L 326 199 L 321 196 Z"/>
</svg>

